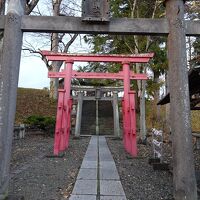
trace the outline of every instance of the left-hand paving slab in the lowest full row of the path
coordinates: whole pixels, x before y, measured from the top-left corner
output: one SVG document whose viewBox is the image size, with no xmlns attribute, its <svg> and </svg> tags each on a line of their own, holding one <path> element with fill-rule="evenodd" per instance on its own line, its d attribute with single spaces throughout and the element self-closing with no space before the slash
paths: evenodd
<svg viewBox="0 0 200 200">
<path fill-rule="evenodd" d="M 77 180 L 72 194 L 78 195 L 97 195 L 97 181 L 96 180 Z"/>
</svg>

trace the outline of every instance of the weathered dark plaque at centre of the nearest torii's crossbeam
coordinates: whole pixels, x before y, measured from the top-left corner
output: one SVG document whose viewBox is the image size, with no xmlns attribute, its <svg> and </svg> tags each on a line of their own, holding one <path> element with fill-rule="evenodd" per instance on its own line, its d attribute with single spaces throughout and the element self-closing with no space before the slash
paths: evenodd
<svg viewBox="0 0 200 200">
<path fill-rule="evenodd" d="M 82 20 L 109 22 L 109 0 L 83 0 Z"/>
</svg>

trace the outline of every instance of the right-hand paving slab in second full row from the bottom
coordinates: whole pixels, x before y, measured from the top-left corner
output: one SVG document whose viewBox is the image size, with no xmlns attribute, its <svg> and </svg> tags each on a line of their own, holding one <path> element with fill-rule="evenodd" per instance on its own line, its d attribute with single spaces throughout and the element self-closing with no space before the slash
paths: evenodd
<svg viewBox="0 0 200 200">
<path fill-rule="evenodd" d="M 120 180 L 117 169 L 100 168 L 100 180 Z"/>
</svg>

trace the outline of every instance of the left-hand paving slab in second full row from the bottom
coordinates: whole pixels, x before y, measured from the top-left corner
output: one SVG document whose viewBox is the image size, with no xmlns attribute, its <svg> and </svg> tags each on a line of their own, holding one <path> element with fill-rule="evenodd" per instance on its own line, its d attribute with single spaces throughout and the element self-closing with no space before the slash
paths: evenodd
<svg viewBox="0 0 200 200">
<path fill-rule="evenodd" d="M 81 168 L 77 180 L 97 180 L 97 169 Z"/>
</svg>

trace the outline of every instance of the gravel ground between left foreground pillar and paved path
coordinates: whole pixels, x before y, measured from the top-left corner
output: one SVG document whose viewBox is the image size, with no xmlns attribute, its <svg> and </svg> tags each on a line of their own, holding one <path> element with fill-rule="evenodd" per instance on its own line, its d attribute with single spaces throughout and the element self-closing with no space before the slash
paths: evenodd
<svg viewBox="0 0 200 200">
<path fill-rule="evenodd" d="M 52 155 L 53 138 L 26 135 L 14 140 L 11 161 L 10 194 L 22 195 L 25 200 L 67 199 L 76 180 L 89 138 L 70 141 L 62 158 Z"/>
</svg>

